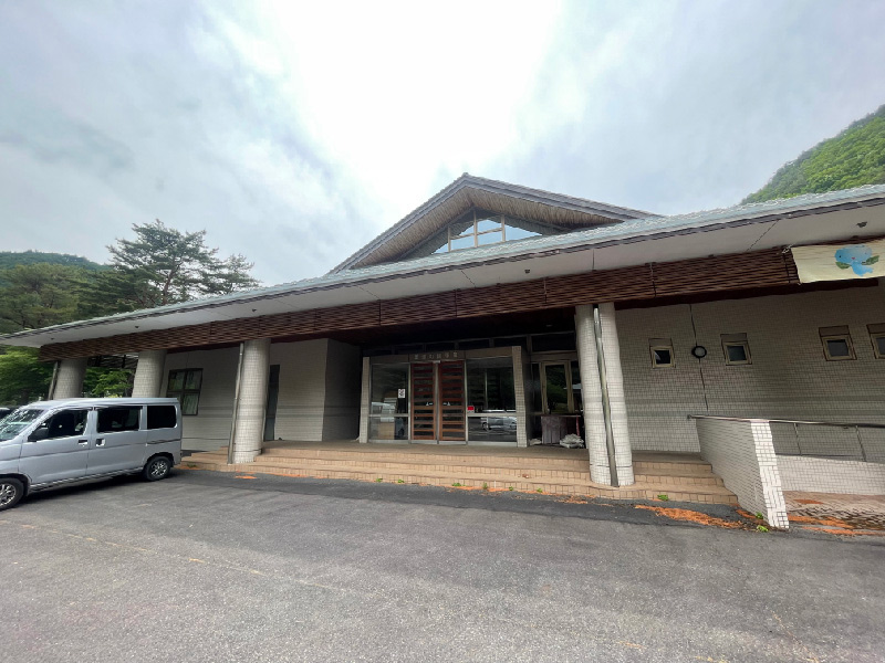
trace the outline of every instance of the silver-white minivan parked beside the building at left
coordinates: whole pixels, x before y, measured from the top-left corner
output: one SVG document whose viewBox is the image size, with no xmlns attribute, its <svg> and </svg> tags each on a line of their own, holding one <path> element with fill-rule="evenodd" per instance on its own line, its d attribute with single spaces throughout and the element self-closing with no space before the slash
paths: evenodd
<svg viewBox="0 0 885 663">
<path fill-rule="evenodd" d="M 175 398 L 71 398 L 0 420 L 0 511 L 32 491 L 119 474 L 166 478 L 181 462 Z"/>
</svg>

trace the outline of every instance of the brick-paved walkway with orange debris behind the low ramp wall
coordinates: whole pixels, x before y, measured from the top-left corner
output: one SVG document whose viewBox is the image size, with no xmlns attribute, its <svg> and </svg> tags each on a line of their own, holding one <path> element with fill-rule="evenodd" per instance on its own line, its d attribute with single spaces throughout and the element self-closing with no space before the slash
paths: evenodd
<svg viewBox="0 0 885 663">
<path fill-rule="evenodd" d="M 790 525 L 836 535 L 885 536 L 885 495 L 784 491 Z"/>
</svg>

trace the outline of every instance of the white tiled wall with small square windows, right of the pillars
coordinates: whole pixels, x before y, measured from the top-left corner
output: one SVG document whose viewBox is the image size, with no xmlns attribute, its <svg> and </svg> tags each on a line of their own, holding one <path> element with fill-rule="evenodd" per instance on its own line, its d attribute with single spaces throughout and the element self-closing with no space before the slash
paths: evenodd
<svg viewBox="0 0 885 663">
<path fill-rule="evenodd" d="M 885 423 L 885 360 L 873 355 L 871 323 L 885 323 L 882 288 L 618 311 L 632 448 L 698 451 L 687 414 Z M 819 328 L 835 325 L 850 327 L 856 360 L 825 360 Z M 752 364 L 727 366 L 720 336 L 739 333 Z M 649 338 L 673 339 L 674 368 L 652 368 Z M 702 360 L 690 355 L 696 344 Z"/>
</svg>

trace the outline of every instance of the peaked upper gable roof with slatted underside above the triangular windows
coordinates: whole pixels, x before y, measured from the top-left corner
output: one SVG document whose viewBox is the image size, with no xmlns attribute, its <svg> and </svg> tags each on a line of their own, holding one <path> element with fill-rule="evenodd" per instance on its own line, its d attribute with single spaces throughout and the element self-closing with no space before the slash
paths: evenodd
<svg viewBox="0 0 885 663">
<path fill-rule="evenodd" d="M 534 221 L 560 232 L 654 215 L 465 172 L 331 273 L 400 260 L 471 209 Z"/>
</svg>

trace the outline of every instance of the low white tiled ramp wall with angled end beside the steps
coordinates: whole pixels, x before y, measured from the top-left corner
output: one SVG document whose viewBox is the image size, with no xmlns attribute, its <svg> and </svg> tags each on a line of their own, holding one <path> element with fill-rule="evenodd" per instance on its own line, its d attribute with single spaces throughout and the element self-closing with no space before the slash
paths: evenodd
<svg viewBox="0 0 885 663">
<path fill-rule="evenodd" d="M 773 527 L 787 529 L 778 457 L 768 423 L 694 420 L 700 453 L 750 513 L 761 513 Z"/>
</svg>

